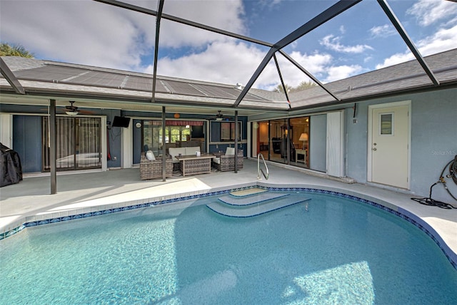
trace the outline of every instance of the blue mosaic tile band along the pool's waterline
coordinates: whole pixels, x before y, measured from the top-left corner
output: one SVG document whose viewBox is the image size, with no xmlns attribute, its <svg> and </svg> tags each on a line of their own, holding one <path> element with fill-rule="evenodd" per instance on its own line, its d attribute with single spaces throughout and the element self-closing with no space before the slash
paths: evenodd
<svg viewBox="0 0 457 305">
<path fill-rule="evenodd" d="M 391 207 L 387 207 L 386 205 L 383 205 L 381 203 L 374 202 L 373 200 L 367 200 L 363 199 L 361 197 L 358 197 L 356 195 L 348 195 L 343 192 L 339 192 L 336 190 L 325 190 L 323 188 L 314 188 L 314 187 L 279 187 L 279 186 L 266 186 L 266 185 L 256 185 L 256 184 L 249 184 L 243 187 L 234 187 L 230 189 L 221 189 L 221 190 L 214 190 L 212 192 L 206 192 L 206 193 L 196 193 L 196 194 L 187 194 L 182 197 L 169 197 L 168 199 L 165 199 L 165 197 L 160 197 L 156 198 L 155 200 L 146 200 L 146 201 L 151 201 L 151 202 L 143 202 L 143 203 L 137 203 L 134 205 L 125 205 L 129 204 L 131 202 L 124 202 L 124 204 L 116 204 L 116 205 L 111 205 L 110 208 L 104 209 L 105 206 L 101 207 L 96 207 L 94 211 L 94 207 L 92 208 L 86 208 L 86 209 L 78 209 L 74 210 L 73 212 L 77 212 L 76 214 L 71 214 L 72 211 L 65 211 L 64 213 L 66 215 L 64 216 L 59 216 L 59 217 L 54 217 L 56 214 L 61 214 L 61 213 L 49 213 L 51 215 L 50 218 L 44 218 L 46 217 L 47 214 L 44 215 L 37 215 L 36 217 L 31 217 L 32 219 L 36 219 L 33 221 L 24 222 L 22 224 L 19 224 L 17 227 L 14 227 L 14 229 L 10 229 L 9 231 L 0 233 L 0 240 L 6 239 L 7 237 L 11 237 L 16 233 L 21 232 L 22 230 L 26 229 L 27 227 L 36 227 L 39 225 L 43 224 L 53 224 L 56 222 L 66 222 L 69 220 L 74 220 L 74 219 L 81 219 L 81 218 L 87 218 L 87 217 L 93 217 L 93 216 L 99 216 L 102 214 L 111 214 L 111 213 L 116 213 L 116 212 L 123 212 L 123 211 L 129 211 L 129 210 L 136 210 L 140 208 L 145 208 L 145 207 L 154 207 L 154 206 L 159 206 L 159 205 L 166 205 L 169 203 L 174 203 L 174 202 L 181 202 L 185 200 L 194 200 L 194 199 L 199 199 L 202 197 L 210 197 L 210 196 L 215 196 L 215 195 L 224 195 L 224 194 L 229 194 L 229 192 L 236 192 L 236 191 L 241 191 L 241 190 L 247 190 L 251 188 L 261 188 L 263 190 L 269 190 L 269 191 L 281 191 L 281 192 L 313 192 L 316 194 L 325 194 L 325 195 L 334 195 L 338 197 L 344 197 L 348 198 L 350 200 L 355 200 L 367 205 L 371 205 L 373 207 L 377 207 L 378 209 L 384 210 L 386 212 L 389 212 L 391 214 L 394 214 L 398 217 L 401 217 L 402 219 L 406 220 L 407 222 L 410 222 L 414 226 L 418 227 L 418 229 L 421 229 L 422 232 L 428 235 L 428 237 L 431 237 L 433 242 L 435 242 L 438 247 L 440 247 L 441 251 L 445 254 L 446 258 L 448 261 L 451 263 L 451 265 L 454 267 L 454 269 L 457 270 L 457 254 L 452 251 L 446 244 L 446 242 L 443 241 L 443 239 L 439 236 L 439 234 L 426 222 L 423 221 L 420 217 L 417 217 L 415 214 L 404 210 L 401 207 L 397 207 L 397 210 L 393 210 Z M 177 196 L 177 195 L 175 195 Z M 378 200 L 376 200 L 378 201 Z M 387 203 L 388 202 L 383 202 Z M 124 206 L 123 206 L 124 205 Z M 103 210 L 101 210 L 103 209 Z M 29 217 L 27 217 L 29 218 Z M 41 219 L 40 219 L 41 218 Z"/>
</svg>

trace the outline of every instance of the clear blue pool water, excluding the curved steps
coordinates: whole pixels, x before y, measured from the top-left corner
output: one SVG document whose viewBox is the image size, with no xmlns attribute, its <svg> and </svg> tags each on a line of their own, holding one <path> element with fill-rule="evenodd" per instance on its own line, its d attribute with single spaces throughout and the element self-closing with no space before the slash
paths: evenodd
<svg viewBox="0 0 457 305">
<path fill-rule="evenodd" d="M 303 196 L 243 219 L 205 198 L 28 228 L 0 241 L 0 304 L 457 304 L 456 269 L 420 229 Z"/>
</svg>

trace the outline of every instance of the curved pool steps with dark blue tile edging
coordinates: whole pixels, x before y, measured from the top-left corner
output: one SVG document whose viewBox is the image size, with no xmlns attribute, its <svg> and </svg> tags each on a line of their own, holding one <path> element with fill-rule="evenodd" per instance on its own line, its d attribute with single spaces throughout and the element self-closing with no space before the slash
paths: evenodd
<svg viewBox="0 0 457 305">
<path fill-rule="evenodd" d="M 309 198 L 303 197 L 303 195 L 277 193 L 269 193 L 271 195 L 267 199 L 266 194 L 268 193 L 239 199 L 229 199 L 229 196 L 224 196 L 221 197 L 219 201 L 211 202 L 206 205 L 206 207 L 209 207 L 209 209 L 224 216 L 243 218 L 265 214 L 282 209 L 283 207 L 290 207 L 291 205 L 296 205 L 297 203 L 310 200 Z M 250 199 L 250 201 L 246 201 L 246 199 Z"/>
</svg>

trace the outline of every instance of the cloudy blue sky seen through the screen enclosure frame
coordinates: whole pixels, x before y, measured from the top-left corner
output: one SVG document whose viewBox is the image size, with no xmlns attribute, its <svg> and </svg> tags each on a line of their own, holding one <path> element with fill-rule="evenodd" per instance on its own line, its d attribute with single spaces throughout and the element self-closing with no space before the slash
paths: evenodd
<svg viewBox="0 0 457 305">
<path fill-rule="evenodd" d="M 157 1 L 124 1 L 156 11 Z M 165 0 L 164 14 L 268 43 L 306 24 L 336 1 Z M 388 0 L 421 55 L 457 48 L 457 3 Z M 268 48 L 162 19 L 157 73 L 215 83 L 246 84 Z M 0 0 L 0 41 L 35 58 L 152 73 L 156 18 L 91 0 Z M 363 0 L 283 48 L 322 83 L 413 59 L 381 6 Z M 277 54 L 284 83 L 308 78 Z M 254 87 L 279 83 L 274 61 Z"/>
</svg>

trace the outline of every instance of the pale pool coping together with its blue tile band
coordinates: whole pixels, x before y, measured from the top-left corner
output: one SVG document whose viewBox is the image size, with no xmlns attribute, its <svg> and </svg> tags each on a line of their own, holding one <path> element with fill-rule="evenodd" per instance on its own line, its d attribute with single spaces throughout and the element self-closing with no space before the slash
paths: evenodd
<svg viewBox="0 0 457 305">
<path fill-rule="evenodd" d="M 361 194 L 359 192 L 341 189 L 339 187 L 326 187 L 322 185 L 289 185 L 284 187 L 284 185 L 276 185 L 266 182 L 249 182 L 241 185 L 231 185 L 229 187 L 218 187 L 212 188 L 210 190 L 199 190 L 196 192 L 187 192 L 174 195 L 165 195 L 159 197 L 146 198 L 142 200 L 133 200 L 127 202 L 118 202 L 109 205 L 97 205 L 92 207 L 84 207 L 74 210 L 65 210 L 61 212 L 44 212 L 36 215 L 29 215 L 20 217 L 14 222 L 6 225 L 3 228 L 0 228 L 0 240 L 6 239 L 13 236 L 16 233 L 23 231 L 28 227 L 36 227 L 44 224 L 52 224 L 56 222 L 65 222 L 73 219 L 81 219 L 92 216 L 99 216 L 102 214 L 111 214 L 115 212 L 122 212 L 128 210 L 135 210 L 139 208 L 146 207 L 155 207 L 159 205 L 166 205 L 174 202 L 181 202 L 184 200 L 194 200 L 201 197 L 209 197 L 214 195 L 228 194 L 229 192 L 235 192 L 239 190 L 246 190 L 253 187 L 259 187 L 265 190 L 271 191 L 288 191 L 288 192 L 315 192 L 327 195 L 336 195 L 338 197 L 345 197 L 351 200 L 356 200 L 364 204 L 377 207 L 391 214 L 395 214 L 402 219 L 410 222 L 415 225 L 421 231 L 426 233 L 428 237 L 431 237 L 433 242 L 435 242 L 441 251 L 445 254 L 448 261 L 457 270 L 457 253 L 448 246 L 448 244 L 443 240 L 443 238 L 436 232 L 435 229 L 428 224 L 424 219 L 418 217 L 411 211 L 408 211 L 402 207 L 398 207 L 391 202 L 386 200 L 381 200 L 370 195 Z"/>
</svg>

